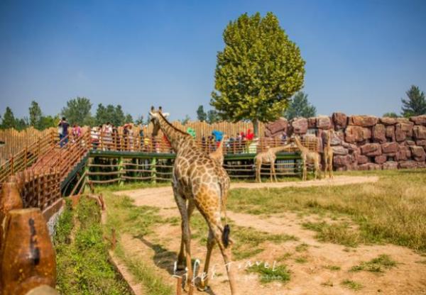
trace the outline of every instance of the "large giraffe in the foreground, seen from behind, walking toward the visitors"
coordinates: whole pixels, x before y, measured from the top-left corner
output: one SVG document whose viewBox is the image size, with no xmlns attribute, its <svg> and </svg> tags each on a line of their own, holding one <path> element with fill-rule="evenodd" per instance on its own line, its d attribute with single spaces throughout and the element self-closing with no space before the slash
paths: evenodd
<svg viewBox="0 0 426 295">
<path fill-rule="evenodd" d="M 200 211 L 209 226 L 207 238 L 207 254 L 204 262 L 204 273 L 198 289 L 204 291 L 208 287 L 207 274 L 212 249 L 219 245 L 228 273 L 231 294 L 238 294 L 235 284 L 235 267 L 231 267 L 231 245 L 229 238 L 230 228 L 226 224 L 226 198 L 228 196 L 230 180 L 225 169 L 204 153 L 192 139 L 191 135 L 175 128 L 161 113 L 152 107 L 150 111 L 153 123 L 153 135 L 161 129 L 170 141 L 176 152 L 173 166 L 173 194 L 182 219 L 182 239 L 178 255 L 178 270 L 185 269 L 186 260 L 187 278 L 185 286 L 191 284 L 193 269 L 191 265 L 190 247 L 190 217 L 195 208 Z M 224 214 L 225 224 L 222 225 L 221 216 Z M 191 288 L 191 287 L 190 287 Z"/>
</svg>

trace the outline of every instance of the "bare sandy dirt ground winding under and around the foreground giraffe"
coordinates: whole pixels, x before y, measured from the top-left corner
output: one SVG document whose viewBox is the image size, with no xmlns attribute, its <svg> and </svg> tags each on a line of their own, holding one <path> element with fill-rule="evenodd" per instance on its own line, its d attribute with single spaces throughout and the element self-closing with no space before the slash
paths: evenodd
<svg viewBox="0 0 426 295">
<path fill-rule="evenodd" d="M 335 177 L 330 181 L 311 182 L 281 182 L 278 184 L 232 184 L 231 188 L 260 188 L 260 187 L 305 187 L 320 185 L 343 185 L 361 182 L 376 182 L 378 177 Z M 137 206 L 155 206 L 160 208 L 161 216 L 179 216 L 173 200 L 170 187 L 153 189 L 138 189 L 133 191 L 119 191 L 117 195 L 127 195 L 135 200 Z M 342 245 L 320 243 L 315 239 L 315 233 L 305 230 L 300 225 L 306 218 L 296 213 L 283 212 L 273 216 L 254 216 L 246 213 L 229 212 L 229 218 L 238 226 L 251 227 L 271 234 L 294 235 L 299 240 L 281 243 L 279 245 L 266 242 L 262 245 L 263 252 L 251 257 L 251 262 L 261 261 L 273 264 L 282 259 L 285 253 L 288 258 L 277 262 L 285 264 L 291 272 L 290 282 L 281 284 L 272 282 L 261 284 L 258 277 L 248 274 L 244 269 L 246 260 L 237 262 L 241 269 L 237 272 L 237 281 L 241 294 L 426 294 L 426 265 L 417 263 L 426 258 L 417 255 L 412 250 L 395 245 L 361 245 L 347 249 Z M 304 219 L 305 218 L 305 219 Z M 207 234 L 207 233 L 206 233 Z M 297 245 L 307 244 L 307 249 L 298 252 Z M 158 276 L 165 282 L 175 285 L 173 262 L 176 259 L 180 245 L 180 226 L 162 224 L 154 232 L 143 238 L 123 235 L 121 244 L 124 250 L 131 255 L 143 259 L 155 268 Z M 348 270 L 360 262 L 365 262 L 378 255 L 390 255 L 398 262 L 397 267 L 381 274 L 371 272 L 349 272 Z M 205 246 L 192 240 L 192 257 L 204 261 Z M 297 263 L 302 257 L 305 262 Z M 219 250 L 215 248 L 212 255 L 212 266 L 216 265 L 219 276 L 210 280 L 212 290 L 210 294 L 229 294 L 229 285 L 226 282 L 226 271 Z M 327 266 L 339 267 L 337 270 Z M 350 279 L 363 285 L 360 291 L 353 291 L 342 286 L 341 282 Z M 205 294 L 195 292 L 195 294 Z"/>
</svg>

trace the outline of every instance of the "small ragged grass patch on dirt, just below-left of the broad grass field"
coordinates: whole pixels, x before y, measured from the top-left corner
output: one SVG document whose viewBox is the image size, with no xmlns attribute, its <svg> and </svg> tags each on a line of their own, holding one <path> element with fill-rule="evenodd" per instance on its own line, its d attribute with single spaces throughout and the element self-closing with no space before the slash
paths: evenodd
<svg viewBox="0 0 426 295">
<path fill-rule="evenodd" d="M 356 230 L 351 230 L 348 223 L 326 223 L 325 221 L 302 223 L 302 226 L 317 232 L 315 238 L 322 242 L 336 243 L 346 247 L 356 247 L 365 240 Z"/>
</svg>

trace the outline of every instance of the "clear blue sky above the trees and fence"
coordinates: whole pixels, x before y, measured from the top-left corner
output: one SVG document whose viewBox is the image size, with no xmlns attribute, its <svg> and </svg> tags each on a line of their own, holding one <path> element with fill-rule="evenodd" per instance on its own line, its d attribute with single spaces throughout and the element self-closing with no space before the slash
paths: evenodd
<svg viewBox="0 0 426 295">
<path fill-rule="evenodd" d="M 209 106 L 222 32 L 241 13 L 272 11 L 306 61 L 318 113 L 400 112 L 426 91 L 426 1 L 0 1 L 0 113 L 68 99 L 172 118 Z"/>
</svg>

